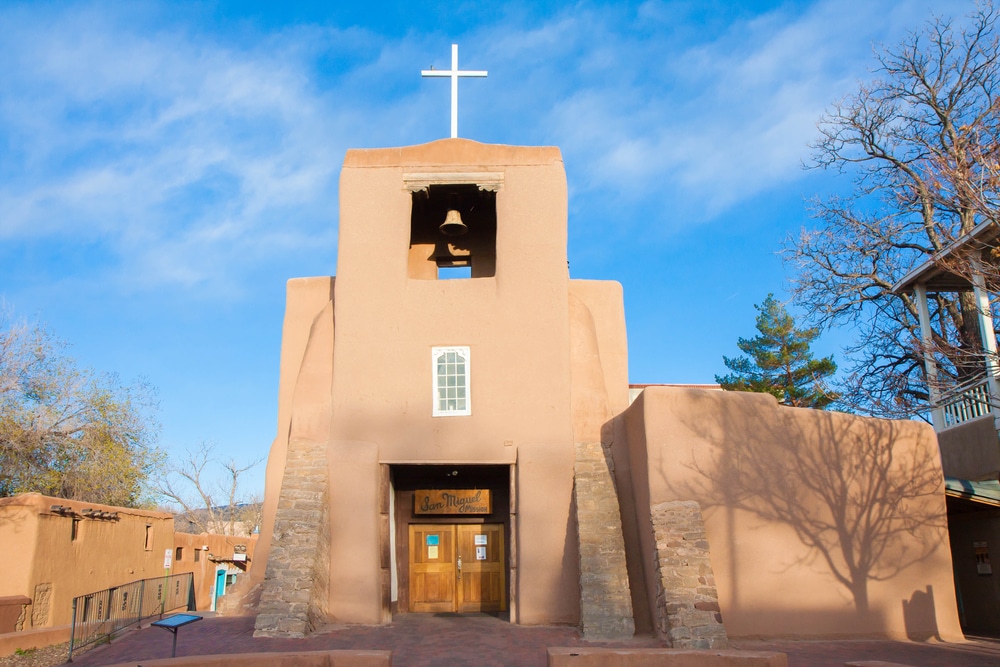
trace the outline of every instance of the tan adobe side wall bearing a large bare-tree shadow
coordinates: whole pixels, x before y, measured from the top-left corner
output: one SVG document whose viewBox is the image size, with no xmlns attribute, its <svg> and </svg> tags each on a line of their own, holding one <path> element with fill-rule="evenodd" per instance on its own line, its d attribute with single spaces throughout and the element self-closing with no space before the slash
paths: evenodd
<svg viewBox="0 0 1000 667">
<path fill-rule="evenodd" d="M 649 507 L 696 500 L 730 637 L 962 637 L 929 426 L 650 387 L 615 438 L 619 489 L 635 513 L 633 594 L 645 591 L 647 610 Z"/>
</svg>

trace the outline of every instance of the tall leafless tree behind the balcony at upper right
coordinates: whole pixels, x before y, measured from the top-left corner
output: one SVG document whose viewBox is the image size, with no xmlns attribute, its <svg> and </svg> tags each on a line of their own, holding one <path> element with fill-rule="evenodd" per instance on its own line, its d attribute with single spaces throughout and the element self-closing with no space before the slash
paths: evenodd
<svg viewBox="0 0 1000 667">
<path fill-rule="evenodd" d="M 997 218 L 1000 125 L 998 13 L 984 4 L 962 27 L 935 19 L 877 56 L 877 78 L 819 123 L 814 168 L 854 178 L 846 198 L 813 202 L 819 228 L 786 243 L 795 298 L 821 325 L 850 324 L 843 401 L 874 414 L 925 409 L 917 305 L 892 287 L 977 224 Z M 931 300 L 941 374 L 981 372 L 971 294 Z"/>
</svg>

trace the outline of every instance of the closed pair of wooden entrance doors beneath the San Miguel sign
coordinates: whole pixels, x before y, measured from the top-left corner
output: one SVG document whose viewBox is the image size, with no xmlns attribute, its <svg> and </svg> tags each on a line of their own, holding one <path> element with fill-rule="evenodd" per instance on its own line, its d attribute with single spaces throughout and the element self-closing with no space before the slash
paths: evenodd
<svg viewBox="0 0 1000 667">
<path fill-rule="evenodd" d="M 503 524 L 410 524 L 410 611 L 505 611 Z"/>
</svg>

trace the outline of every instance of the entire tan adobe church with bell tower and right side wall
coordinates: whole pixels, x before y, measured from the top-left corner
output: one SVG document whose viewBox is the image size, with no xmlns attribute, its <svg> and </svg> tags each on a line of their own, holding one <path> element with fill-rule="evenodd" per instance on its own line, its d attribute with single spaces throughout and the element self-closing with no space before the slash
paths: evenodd
<svg viewBox="0 0 1000 667">
<path fill-rule="evenodd" d="M 706 648 L 960 635 L 933 432 L 630 406 L 621 287 L 568 275 L 558 149 L 351 150 L 340 198 L 337 277 L 288 284 L 258 635 L 464 611 Z"/>
</svg>

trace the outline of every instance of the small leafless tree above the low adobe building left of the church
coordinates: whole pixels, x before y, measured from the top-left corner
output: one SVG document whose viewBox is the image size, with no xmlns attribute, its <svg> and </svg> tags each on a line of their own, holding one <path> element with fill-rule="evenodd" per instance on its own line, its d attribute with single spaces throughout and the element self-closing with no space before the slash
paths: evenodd
<svg viewBox="0 0 1000 667">
<path fill-rule="evenodd" d="M 157 491 L 181 510 L 178 520 L 187 521 L 199 533 L 251 535 L 260 525 L 262 503 L 259 496 L 245 495 L 240 483 L 243 474 L 262 460 L 223 461 L 215 458 L 213 445 L 203 442 L 166 466 Z M 213 469 L 221 473 L 217 480 L 210 479 Z"/>
</svg>

